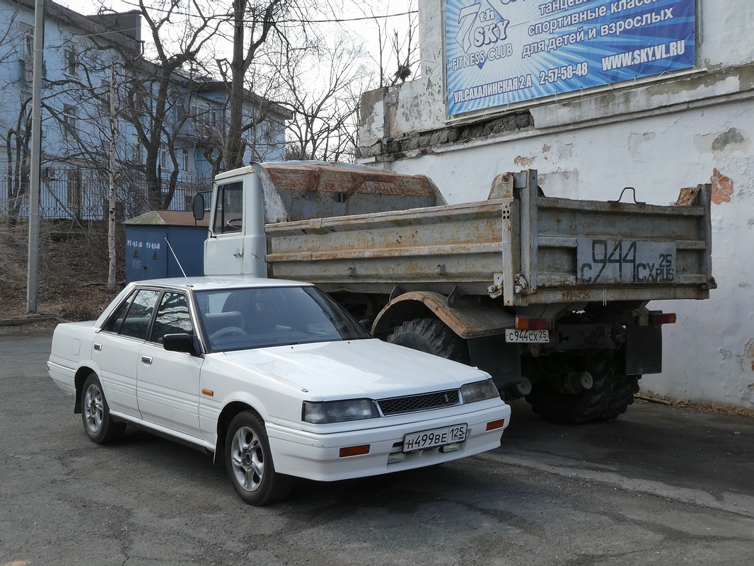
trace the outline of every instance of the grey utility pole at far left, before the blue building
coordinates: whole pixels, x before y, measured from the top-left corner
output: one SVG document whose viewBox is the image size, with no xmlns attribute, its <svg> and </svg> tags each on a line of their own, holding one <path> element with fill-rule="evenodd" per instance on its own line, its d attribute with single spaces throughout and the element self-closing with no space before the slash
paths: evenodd
<svg viewBox="0 0 754 566">
<path fill-rule="evenodd" d="M 34 67 L 32 78 L 32 163 L 29 171 L 29 263 L 26 312 L 37 312 L 39 278 L 39 163 L 42 141 L 42 65 L 44 63 L 44 0 L 34 5 Z"/>
</svg>

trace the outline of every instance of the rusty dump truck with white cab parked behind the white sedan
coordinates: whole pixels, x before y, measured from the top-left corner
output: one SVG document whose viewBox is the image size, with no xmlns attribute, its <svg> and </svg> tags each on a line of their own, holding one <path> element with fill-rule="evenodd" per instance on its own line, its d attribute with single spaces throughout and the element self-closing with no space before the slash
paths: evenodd
<svg viewBox="0 0 754 566">
<path fill-rule="evenodd" d="M 662 371 L 676 315 L 648 303 L 716 287 L 711 186 L 667 206 L 627 189 L 547 197 L 526 170 L 449 205 L 426 176 L 259 163 L 216 177 L 204 269 L 314 283 L 375 337 L 481 368 L 544 419 L 611 420 Z"/>
</svg>

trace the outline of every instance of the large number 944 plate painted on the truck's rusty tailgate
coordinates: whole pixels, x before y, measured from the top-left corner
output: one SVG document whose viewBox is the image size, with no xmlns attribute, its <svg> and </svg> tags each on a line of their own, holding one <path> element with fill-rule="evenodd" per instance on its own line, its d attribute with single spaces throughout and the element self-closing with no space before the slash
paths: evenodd
<svg viewBox="0 0 754 566">
<path fill-rule="evenodd" d="M 657 285 L 676 279 L 676 242 L 580 239 L 576 279 L 583 285 Z"/>
</svg>

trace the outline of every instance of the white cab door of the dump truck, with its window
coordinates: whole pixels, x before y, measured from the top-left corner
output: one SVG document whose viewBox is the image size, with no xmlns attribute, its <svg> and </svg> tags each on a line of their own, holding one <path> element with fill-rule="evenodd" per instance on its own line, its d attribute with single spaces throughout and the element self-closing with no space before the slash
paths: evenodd
<svg viewBox="0 0 754 566">
<path fill-rule="evenodd" d="M 213 192 L 210 237 L 204 243 L 205 275 L 244 272 L 244 183 L 218 184 Z"/>
</svg>

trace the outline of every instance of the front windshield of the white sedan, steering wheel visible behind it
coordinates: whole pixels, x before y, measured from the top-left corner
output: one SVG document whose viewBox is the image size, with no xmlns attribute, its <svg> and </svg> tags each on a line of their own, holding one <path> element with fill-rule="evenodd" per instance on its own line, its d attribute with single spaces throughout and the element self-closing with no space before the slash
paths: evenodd
<svg viewBox="0 0 754 566">
<path fill-rule="evenodd" d="M 371 337 L 314 287 L 197 291 L 195 299 L 213 352 Z"/>
</svg>

